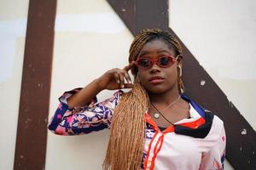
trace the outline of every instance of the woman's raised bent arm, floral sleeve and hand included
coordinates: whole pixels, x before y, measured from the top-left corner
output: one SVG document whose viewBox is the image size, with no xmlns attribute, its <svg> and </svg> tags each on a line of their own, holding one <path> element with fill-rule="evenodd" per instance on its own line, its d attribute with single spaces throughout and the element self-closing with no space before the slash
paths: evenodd
<svg viewBox="0 0 256 170">
<path fill-rule="evenodd" d="M 112 98 L 97 104 L 96 94 L 103 89 L 131 88 L 131 78 L 127 71 L 133 65 L 131 63 L 122 70 L 107 71 L 86 87 L 64 93 L 60 98 L 61 104 L 49 121 L 49 130 L 61 135 L 77 135 L 109 127 L 113 110 L 123 92 L 119 90 Z"/>
</svg>

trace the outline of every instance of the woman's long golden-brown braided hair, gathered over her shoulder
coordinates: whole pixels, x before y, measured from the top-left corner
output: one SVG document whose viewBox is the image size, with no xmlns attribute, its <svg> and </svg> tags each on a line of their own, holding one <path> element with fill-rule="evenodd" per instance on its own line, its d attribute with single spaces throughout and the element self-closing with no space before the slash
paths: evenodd
<svg viewBox="0 0 256 170">
<path fill-rule="evenodd" d="M 182 55 L 180 44 L 172 35 L 160 29 L 146 29 L 138 34 L 131 43 L 130 63 L 137 59 L 145 43 L 153 38 L 165 39 L 172 44 L 172 48 L 177 51 L 177 54 Z M 122 95 L 119 105 L 113 113 L 108 150 L 103 163 L 105 170 L 137 170 L 143 161 L 146 127 L 144 113 L 148 110 L 150 101 L 146 90 L 137 81 L 136 68 L 131 72 L 135 76 L 133 88 Z M 181 82 L 180 77 L 178 81 Z M 181 92 L 180 89 L 179 92 Z"/>
</svg>

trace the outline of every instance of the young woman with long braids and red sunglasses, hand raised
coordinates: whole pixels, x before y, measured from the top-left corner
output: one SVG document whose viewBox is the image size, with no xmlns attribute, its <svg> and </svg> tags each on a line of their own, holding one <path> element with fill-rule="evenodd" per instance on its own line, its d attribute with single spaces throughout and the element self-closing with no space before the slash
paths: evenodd
<svg viewBox="0 0 256 170">
<path fill-rule="evenodd" d="M 129 65 L 61 96 L 49 130 L 74 135 L 110 128 L 103 169 L 223 169 L 224 123 L 183 94 L 182 59 L 169 32 L 143 30 L 131 43 Z M 96 103 L 103 89 L 119 90 Z"/>
</svg>

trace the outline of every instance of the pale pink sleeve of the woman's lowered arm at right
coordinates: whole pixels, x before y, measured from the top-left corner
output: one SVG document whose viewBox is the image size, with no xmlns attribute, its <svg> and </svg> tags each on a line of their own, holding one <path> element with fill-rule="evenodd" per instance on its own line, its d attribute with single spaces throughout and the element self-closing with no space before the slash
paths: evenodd
<svg viewBox="0 0 256 170">
<path fill-rule="evenodd" d="M 224 124 L 220 125 L 220 132 L 218 139 L 214 142 L 211 150 L 202 154 L 201 170 L 223 170 L 225 159 L 226 135 L 224 131 Z"/>
</svg>

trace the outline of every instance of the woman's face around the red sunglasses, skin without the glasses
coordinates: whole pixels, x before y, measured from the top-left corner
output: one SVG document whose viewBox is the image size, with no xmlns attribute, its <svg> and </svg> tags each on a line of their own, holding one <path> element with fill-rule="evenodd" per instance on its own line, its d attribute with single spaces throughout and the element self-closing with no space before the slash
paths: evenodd
<svg viewBox="0 0 256 170">
<path fill-rule="evenodd" d="M 158 59 L 166 55 L 175 56 L 174 51 L 161 39 L 147 42 L 139 58 Z M 148 94 L 164 94 L 171 90 L 177 90 L 177 64 L 178 61 L 169 67 L 162 68 L 159 65 L 152 65 L 148 69 L 138 68 L 138 78 Z"/>
</svg>

